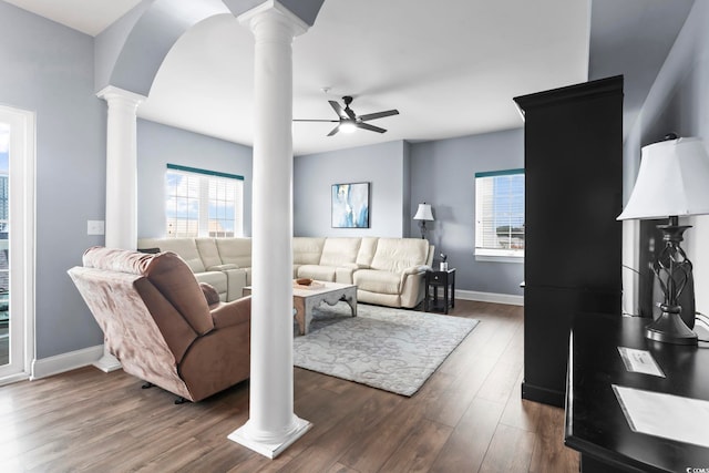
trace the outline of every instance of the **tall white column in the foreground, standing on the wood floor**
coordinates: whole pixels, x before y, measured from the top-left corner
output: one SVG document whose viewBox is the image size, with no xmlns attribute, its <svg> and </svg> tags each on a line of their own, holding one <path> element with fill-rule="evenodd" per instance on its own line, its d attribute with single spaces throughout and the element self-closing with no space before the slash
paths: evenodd
<svg viewBox="0 0 709 473">
<path fill-rule="evenodd" d="M 276 457 L 310 423 L 294 413 L 292 38 L 307 24 L 277 1 L 239 17 L 255 37 L 249 420 L 229 439 Z"/>
</svg>

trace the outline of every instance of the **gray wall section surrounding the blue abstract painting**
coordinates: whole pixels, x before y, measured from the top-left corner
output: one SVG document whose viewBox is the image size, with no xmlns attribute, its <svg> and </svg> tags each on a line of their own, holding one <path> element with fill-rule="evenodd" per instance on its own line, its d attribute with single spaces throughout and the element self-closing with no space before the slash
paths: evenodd
<svg viewBox="0 0 709 473">
<path fill-rule="evenodd" d="M 294 162 L 295 236 L 403 237 L 409 186 L 401 141 L 297 156 Z M 369 228 L 332 228 L 332 184 L 370 183 Z"/>
</svg>

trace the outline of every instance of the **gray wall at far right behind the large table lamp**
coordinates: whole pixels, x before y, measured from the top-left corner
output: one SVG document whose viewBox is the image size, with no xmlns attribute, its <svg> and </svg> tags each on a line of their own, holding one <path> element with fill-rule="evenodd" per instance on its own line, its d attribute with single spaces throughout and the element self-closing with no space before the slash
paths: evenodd
<svg viewBox="0 0 709 473">
<path fill-rule="evenodd" d="M 698 136 L 709 144 L 709 0 L 695 4 L 657 75 L 624 151 L 626 196 L 640 161 L 640 150 L 668 132 Z M 709 216 L 687 219 L 684 245 L 695 266 L 697 310 L 709 312 Z"/>
</svg>

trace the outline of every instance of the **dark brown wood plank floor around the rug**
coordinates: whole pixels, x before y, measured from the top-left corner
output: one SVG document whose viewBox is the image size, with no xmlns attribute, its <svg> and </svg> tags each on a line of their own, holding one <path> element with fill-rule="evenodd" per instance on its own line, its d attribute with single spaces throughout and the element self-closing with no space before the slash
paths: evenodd
<svg viewBox="0 0 709 473">
<path fill-rule="evenodd" d="M 452 313 L 482 323 L 412 398 L 296 369 L 295 411 L 314 426 L 276 460 L 227 440 L 247 383 L 175 405 L 90 367 L 0 387 L 0 471 L 577 472 L 564 411 L 520 399 L 523 309 L 459 300 Z"/>
</svg>

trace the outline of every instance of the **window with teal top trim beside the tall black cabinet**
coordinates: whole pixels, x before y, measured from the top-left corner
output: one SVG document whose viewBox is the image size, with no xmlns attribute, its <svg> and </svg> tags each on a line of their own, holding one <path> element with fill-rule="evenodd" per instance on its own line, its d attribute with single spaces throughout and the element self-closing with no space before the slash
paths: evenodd
<svg viewBox="0 0 709 473">
<path fill-rule="evenodd" d="M 524 169 L 475 173 L 475 256 L 524 257 Z"/>
</svg>

